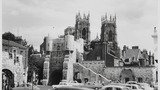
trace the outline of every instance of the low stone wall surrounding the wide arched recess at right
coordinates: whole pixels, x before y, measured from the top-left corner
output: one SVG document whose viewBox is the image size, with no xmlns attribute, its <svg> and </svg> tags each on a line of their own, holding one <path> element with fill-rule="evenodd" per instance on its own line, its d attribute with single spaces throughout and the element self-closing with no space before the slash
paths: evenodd
<svg viewBox="0 0 160 90">
<path fill-rule="evenodd" d="M 155 81 L 155 67 L 106 67 L 103 75 L 110 80 L 117 81 L 120 80 L 121 71 L 124 69 L 130 69 L 136 81 L 138 78 L 142 78 L 142 82 Z"/>
</svg>

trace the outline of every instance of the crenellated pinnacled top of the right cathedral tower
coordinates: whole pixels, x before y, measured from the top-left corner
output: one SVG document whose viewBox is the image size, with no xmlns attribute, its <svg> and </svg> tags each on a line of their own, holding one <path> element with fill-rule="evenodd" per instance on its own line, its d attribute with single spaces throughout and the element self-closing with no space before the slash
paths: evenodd
<svg viewBox="0 0 160 90">
<path fill-rule="evenodd" d="M 116 15 L 113 16 L 113 17 L 110 15 L 110 17 L 108 19 L 107 13 L 106 13 L 104 16 L 101 17 L 101 23 L 102 24 L 104 24 L 104 23 L 116 23 Z"/>
</svg>

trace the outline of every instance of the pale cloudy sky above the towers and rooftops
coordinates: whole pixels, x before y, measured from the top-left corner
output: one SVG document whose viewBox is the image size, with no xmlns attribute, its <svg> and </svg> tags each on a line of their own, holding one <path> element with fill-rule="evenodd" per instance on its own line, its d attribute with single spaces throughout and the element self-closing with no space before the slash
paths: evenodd
<svg viewBox="0 0 160 90">
<path fill-rule="evenodd" d="M 117 41 L 122 49 L 139 46 L 153 51 L 158 0 L 2 0 L 2 33 L 22 36 L 39 50 L 45 36 L 57 38 L 75 26 L 78 12 L 90 14 L 91 40 L 101 33 L 101 17 L 117 17 Z"/>
</svg>

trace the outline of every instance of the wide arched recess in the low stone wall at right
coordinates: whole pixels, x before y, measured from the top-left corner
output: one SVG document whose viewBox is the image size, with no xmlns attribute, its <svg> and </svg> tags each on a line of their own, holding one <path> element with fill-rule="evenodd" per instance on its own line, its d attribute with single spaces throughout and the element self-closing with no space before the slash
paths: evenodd
<svg viewBox="0 0 160 90">
<path fill-rule="evenodd" d="M 135 75 L 131 69 L 123 69 L 120 74 L 120 80 L 123 83 L 126 83 L 128 81 L 135 81 Z"/>
</svg>

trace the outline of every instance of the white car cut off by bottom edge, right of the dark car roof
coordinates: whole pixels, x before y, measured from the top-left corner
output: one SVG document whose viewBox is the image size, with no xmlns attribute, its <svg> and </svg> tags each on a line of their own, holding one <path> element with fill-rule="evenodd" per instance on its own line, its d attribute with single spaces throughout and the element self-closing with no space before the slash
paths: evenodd
<svg viewBox="0 0 160 90">
<path fill-rule="evenodd" d="M 105 85 L 101 90 L 130 90 L 130 88 L 121 85 Z"/>
</svg>

